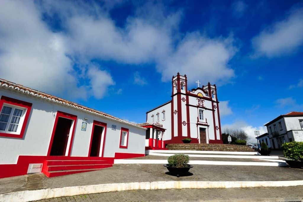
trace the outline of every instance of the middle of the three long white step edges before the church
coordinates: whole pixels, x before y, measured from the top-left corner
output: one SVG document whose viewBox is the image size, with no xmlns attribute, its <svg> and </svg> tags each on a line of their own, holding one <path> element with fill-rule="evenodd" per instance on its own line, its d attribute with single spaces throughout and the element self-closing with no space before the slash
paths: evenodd
<svg viewBox="0 0 303 202">
<path fill-rule="evenodd" d="M 149 152 L 148 155 L 151 156 L 162 156 L 162 157 L 169 157 L 174 154 L 172 153 L 153 153 Z M 205 158 L 235 158 L 235 159 L 278 159 L 278 156 L 258 156 L 258 155 L 253 155 L 253 156 L 243 156 L 243 155 L 203 155 L 203 154 L 187 154 L 189 157 L 205 157 Z"/>
</svg>

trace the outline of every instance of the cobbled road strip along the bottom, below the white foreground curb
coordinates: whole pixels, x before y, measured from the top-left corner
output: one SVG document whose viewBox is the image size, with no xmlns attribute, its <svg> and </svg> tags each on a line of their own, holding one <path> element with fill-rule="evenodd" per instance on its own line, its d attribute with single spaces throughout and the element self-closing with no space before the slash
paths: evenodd
<svg viewBox="0 0 303 202">
<path fill-rule="evenodd" d="M 300 201 L 302 199 L 303 186 L 296 186 L 229 189 L 134 190 L 85 194 L 38 201 Z"/>
</svg>

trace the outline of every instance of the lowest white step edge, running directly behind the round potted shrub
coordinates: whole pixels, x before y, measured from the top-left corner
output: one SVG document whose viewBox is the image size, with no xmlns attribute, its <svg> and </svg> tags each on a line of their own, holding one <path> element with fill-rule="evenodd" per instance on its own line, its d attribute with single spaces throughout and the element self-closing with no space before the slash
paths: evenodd
<svg viewBox="0 0 303 202">
<path fill-rule="evenodd" d="M 115 159 L 114 164 L 166 164 L 167 160 L 157 159 Z M 286 162 L 244 162 L 244 161 L 204 161 L 190 160 L 193 165 L 226 165 L 226 166 L 287 166 Z"/>
</svg>

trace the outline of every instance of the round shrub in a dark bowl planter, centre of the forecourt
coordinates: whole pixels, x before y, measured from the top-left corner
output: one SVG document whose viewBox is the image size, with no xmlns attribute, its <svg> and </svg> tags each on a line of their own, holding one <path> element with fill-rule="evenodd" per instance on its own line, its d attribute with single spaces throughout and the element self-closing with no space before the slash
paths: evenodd
<svg viewBox="0 0 303 202">
<path fill-rule="evenodd" d="M 189 157 L 185 154 L 175 154 L 170 157 L 168 157 L 168 164 L 164 164 L 164 167 L 167 168 L 167 170 L 177 176 L 184 176 L 188 173 L 189 169 L 191 169 L 193 166 L 189 165 Z"/>
</svg>

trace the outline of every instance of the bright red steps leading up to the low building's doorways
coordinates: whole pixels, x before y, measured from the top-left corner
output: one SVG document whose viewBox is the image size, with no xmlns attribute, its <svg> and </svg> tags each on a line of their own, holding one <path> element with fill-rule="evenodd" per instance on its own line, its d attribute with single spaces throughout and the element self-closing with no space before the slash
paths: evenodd
<svg viewBox="0 0 303 202">
<path fill-rule="evenodd" d="M 112 167 L 114 158 L 52 157 L 43 163 L 42 173 L 47 177 L 83 173 Z"/>
</svg>

